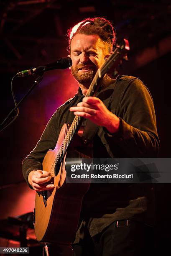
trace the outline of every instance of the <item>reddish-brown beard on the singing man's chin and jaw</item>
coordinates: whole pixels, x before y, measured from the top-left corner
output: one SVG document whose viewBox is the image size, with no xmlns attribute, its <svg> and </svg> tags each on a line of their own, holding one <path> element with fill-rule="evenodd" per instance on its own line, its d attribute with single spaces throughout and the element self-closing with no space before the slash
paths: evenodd
<svg viewBox="0 0 171 256">
<path fill-rule="evenodd" d="M 79 82 L 79 84 L 87 84 L 87 83 L 91 83 L 92 79 L 94 77 L 95 71 L 94 69 L 89 70 L 87 72 L 78 74 L 79 69 L 74 69 L 73 67 L 71 67 L 71 73 L 73 75 L 73 77 Z"/>
</svg>

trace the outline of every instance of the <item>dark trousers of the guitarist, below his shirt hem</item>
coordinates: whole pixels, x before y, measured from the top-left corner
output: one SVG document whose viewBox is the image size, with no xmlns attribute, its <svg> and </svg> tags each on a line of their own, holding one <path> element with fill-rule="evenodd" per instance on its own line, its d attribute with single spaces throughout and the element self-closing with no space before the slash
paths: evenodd
<svg viewBox="0 0 171 256">
<path fill-rule="evenodd" d="M 115 221 L 100 234 L 73 246 L 74 256 L 148 256 L 153 255 L 153 228 L 134 220 Z"/>
</svg>

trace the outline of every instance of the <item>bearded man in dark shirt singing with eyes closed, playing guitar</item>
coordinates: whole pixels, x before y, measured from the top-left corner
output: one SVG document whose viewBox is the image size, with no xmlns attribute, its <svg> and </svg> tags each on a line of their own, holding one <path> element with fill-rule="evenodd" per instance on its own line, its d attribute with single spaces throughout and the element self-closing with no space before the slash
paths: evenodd
<svg viewBox="0 0 171 256">
<path fill-rule="evenodd" d="M 93 135 L 89 129 L 84 139 L 86 143 L 92 138 L 94 158 L 156 157 L 159 139 L 153 100 L 139 79 L 106 75 L 98 97 L 84 97 L 114 43 L 112 24 L 104 18 L 84 20 L 70 31 L 71 72 L 79 90 L 54 113 L 36 148 L 23 161 L 23 175 L 36 191 L 54 187 L 48 184 L 51 176 L 42 170 L 42 161 L 55 147 L 62 125 L 72 123 L 74 115 L 97 128 Z M 82 202 L 75 255 L 143 255 L 152 234 L 153 204 L 152 184 L 91 184 Z"/>
</svg>

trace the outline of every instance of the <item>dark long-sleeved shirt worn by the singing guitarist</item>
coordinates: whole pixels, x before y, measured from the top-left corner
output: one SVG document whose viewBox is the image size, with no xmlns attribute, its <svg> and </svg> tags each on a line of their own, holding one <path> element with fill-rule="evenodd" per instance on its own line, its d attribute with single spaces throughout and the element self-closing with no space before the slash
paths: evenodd
<svg viewBox="0 0 171 256">
<path fill-rule="evenodd" d="M 118 76 L 115 80 L 106 76 L 97 97 L 120 118 L 120 127 L 117 133 L 110 134 L 99 126 L 92 136 L 91 122 L 85 121 L 89 123 L 85 133 L 87 141 L 93 137 L 93 157 L 155 158 L 160 142 L 153 100 L 147 87 L 135 77 Z M 55 148 L 62 125 L 71 124 L 74 120 L 69 108 L 77 105 L 82 98 L 79 88 L 74 98 L 61 105 L 49 120 L 36 147 L 23 160 L 23 176 L 27 182 L 29 172 L 42 169 L 43 158 L 48 149 Z M 92 124 L 92 127 L 95 125 Z M 83 238 L 84 225 L 94 236 L 113 221 L 122 219 L 154 224 L 153 184 L 91 184 L 83 198 L 81 225 L 75 243 Z"/>
</svg>

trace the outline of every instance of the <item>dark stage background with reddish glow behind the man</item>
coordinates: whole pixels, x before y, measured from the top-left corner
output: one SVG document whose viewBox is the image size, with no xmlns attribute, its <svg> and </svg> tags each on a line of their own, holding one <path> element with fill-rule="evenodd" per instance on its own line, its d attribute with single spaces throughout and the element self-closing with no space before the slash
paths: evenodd
<svg viewBox="0 0 171 256">
<path fill-rule="evenodd" d="M 140 78 L 151 91 L 161 140 L 159 157 L 170 158 L 170 14 L 168 0 L 0 1 L 0 123 L 14 107 L 10 82 L 16 72 L 67 56 L 67 29 L 84 18 L 101 16 L 112 21 L 117 42 L 129 40 L 129 62 L 123 64 L 120 73 Z M 17 101 L 34 78 L 14 79 Z M 34 208 L 34 192 L 23 182 L 21 162 L 36 145 L 52 113 L 74 96 L 77 87 L 69 69 L 46 72 L 41 84 L 20 106 L 15 123 L 0 133 L 0 218 Z M 156 185 L 156 223 L 163 222 L 165 227 L 170 216 L 170 193 L 170 184 Z M 162 235 L 158 231 L 163 246 L 170 239 L 167 230 Z"/>
</svg>

